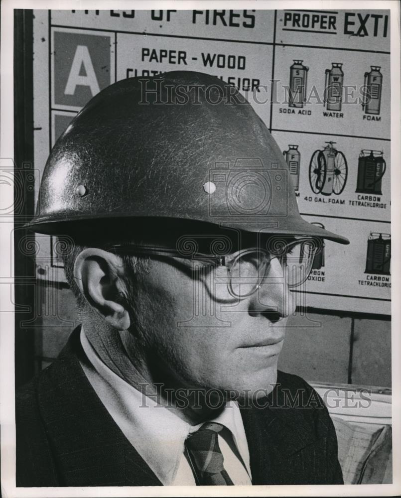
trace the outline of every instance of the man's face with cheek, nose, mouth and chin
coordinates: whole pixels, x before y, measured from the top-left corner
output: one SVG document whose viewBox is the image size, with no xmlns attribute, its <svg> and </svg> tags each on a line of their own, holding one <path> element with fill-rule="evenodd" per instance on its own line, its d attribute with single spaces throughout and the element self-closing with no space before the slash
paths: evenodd
<svg viewBox="0 0 401 498">
<path fill-rule="evenodd" d="M 276 382 L 286 317 L 294 309 L 280 263 L 272 259 L 259 291 L 243 299 L 234 298 L 226 282 L 216 283 L 213 267 L 202 266 L 201 276 L 191 272 L 193 264 L 156 258 L 149 273 L 138 276 L 133 328 L 142 337 L 142 375 L 174 388 L 266 395 Z M 227 274 L 224 267 L 219 271 Z M 135 335 L 125 338 L 131 351 L 138 348 Z"/>
</svg>

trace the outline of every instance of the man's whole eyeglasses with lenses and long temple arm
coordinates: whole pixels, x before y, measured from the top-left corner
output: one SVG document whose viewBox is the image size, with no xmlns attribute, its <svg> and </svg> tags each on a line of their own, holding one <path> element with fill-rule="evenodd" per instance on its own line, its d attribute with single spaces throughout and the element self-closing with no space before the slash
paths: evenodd
<svg viewBox="0 0 401 498">
<path fill-rule="evenodd" d="M 284 281 L 290 289 L 304 283 L 323 242 L 316 237 L 274 236 L 265 241 L 265 246 L 242 249 L 230 255 L 183 253 L 178 249 L 132 244 L 113 245 L 108 250 L 127 255 L 156 255 L 196 261 L 198 269 L 213 271 L 215 285 L 225 283 L 233 297 L 245 298 L 267 281 L 270 262 L 274 258 L 279 261 Z"/>
</svg>

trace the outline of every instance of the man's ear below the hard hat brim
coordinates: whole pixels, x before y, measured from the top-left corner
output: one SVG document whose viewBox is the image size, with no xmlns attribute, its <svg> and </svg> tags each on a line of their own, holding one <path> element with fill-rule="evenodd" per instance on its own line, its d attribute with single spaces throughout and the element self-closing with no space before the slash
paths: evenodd
<svg viewBox="0 0 401 498">
<path fill-rule="evenodd" d="M 84 249 L 75 259 L 74 280 L 88 303 L 107 323 L 118 330 L 130 327 L 130 314 L 121 299 L 127 288 L 119 256 L 102 249 Z"/>
</svg>

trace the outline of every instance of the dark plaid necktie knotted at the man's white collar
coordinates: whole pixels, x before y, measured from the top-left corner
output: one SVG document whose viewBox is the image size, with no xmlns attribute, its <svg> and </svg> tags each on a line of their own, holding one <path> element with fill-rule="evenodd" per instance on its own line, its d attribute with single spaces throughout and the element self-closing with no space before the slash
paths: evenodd
<svg viewBox="0 0 401 498">
<path fill-rule="evenodd" d="M 221 424 L 206 422 L 185 441 L 198 486 L 233 486 L 220 451 L 217 434 Z"/>
</svg>

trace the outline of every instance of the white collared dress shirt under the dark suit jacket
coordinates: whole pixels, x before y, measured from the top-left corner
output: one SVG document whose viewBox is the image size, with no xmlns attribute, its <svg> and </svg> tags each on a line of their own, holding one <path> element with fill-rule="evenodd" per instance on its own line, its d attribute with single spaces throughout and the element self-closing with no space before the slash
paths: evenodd
<svg viewBox="0 0 401 498">
<path fill-rule="evenodd" d="M 81 344 L 88 364 L 81 366 L 100 400 L 125 437 L 164 486 L 195 485 L 184 453 L 185 439 L 202 424 L 192 426 L 151 397 L 126 382 L 103 363 L 81 329 Z M 238 404 L 230 401 L 223 411 L 208 421 L 224 429 L 218 442 L 224 468 L 235 485 L 252 484 L 249 450 Z"/>
</svg>

